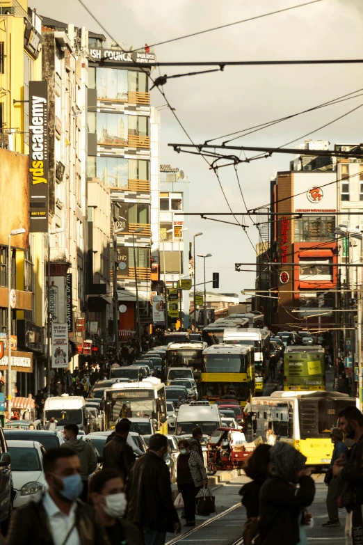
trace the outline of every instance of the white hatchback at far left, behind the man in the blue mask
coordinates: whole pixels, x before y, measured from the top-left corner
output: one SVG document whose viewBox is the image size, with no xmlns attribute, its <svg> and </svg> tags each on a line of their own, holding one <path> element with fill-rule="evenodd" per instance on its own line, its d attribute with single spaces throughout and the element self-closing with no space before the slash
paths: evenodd
<svg viewBox="0 0 363 545">
<path fill-rule="evenodd" d="M 7 441 L 14 483 L 14 507 L 38 500 L 47 488 L 43 470 L 46 453 L 38 441 Z"/>
</svg>

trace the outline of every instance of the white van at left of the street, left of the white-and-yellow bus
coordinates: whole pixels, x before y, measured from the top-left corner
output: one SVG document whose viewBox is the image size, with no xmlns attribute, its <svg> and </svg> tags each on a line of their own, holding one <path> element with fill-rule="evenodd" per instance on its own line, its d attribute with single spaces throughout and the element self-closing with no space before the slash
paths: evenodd
<svg viewBox="0 0 363 545">
<path fill-rule="evenodd" d="M 80 432 L 90 432 L 86 401 L 80 395 L 63 394 L 56 397 L 47 397 L 44 405 L 43 421 L 46 424 L 54 416 L 57 420 L 57 429 L 63 429 L 67 424 L 76 424 Z"/>
</svg>

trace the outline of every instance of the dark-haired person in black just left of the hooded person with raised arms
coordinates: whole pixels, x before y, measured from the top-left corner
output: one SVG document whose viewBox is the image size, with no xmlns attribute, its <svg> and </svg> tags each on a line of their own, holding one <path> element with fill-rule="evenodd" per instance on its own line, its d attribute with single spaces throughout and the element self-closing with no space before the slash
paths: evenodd
<svg viewBox="0 0 363 545">
<path fill-rule="evenodd" d="M 268 477 L 270 450 L 271 446 L 266 443 L 258 445 L 245 466 L 245 474 L 252 481 L 243 484 L 239 495 L 242 496 L 241 502 L 246 508 L 248 519 L 259 516 L 259 491 Z"/>
</svg>

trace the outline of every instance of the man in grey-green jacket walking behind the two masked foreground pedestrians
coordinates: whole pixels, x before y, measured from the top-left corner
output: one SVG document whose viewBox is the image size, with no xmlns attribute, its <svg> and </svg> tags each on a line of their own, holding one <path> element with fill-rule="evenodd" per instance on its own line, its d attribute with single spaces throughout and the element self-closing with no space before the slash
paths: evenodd
<svg viewBox="0 0 363 545">
<path fill-rule="evenodd" d="M 81 468 L 82 491 L 79 495 L 84 502 L 88 498 L 88 476 L 91 475 L 97 468 L 97 457 L 95 450 L 87 441 L 77 439 L 79 427 L 76 424 L 66 424 L 63 428 L 65 443 L 61 444 L 61 448 L 68 448 L 79 457 Z"/>
</svg>

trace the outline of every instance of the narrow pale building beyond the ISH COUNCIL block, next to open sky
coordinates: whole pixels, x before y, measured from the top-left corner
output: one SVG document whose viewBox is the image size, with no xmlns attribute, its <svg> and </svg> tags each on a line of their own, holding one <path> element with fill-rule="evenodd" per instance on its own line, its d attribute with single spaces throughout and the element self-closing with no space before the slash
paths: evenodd
<svg viewBox="0 0 363 545">
<path fill-rule="evenodd" d="M 168 289 L 189 277 L 189 180 L 179 168 L 160 166 L 160 279 Z M 181 214 L 181 215 L 177 215 Z M 170 307 L 169 301 L 169 307 Z M 178 308 L 169 310 L 169 322 L 189 326 L 189 292 L 179 292 Z M 175 304 L 175 303 L 174 303 Z"/>
</svg>

